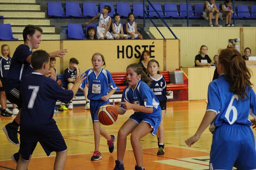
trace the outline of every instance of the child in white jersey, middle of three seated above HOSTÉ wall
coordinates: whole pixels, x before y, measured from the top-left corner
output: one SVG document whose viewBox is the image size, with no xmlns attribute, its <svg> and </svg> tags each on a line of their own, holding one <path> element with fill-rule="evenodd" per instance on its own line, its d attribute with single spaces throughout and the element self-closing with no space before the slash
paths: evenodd
<svg viewBox="0 0 256 170">
<path fill-rule="evenodd" d="M 115 19 L 115 22 L 111 24 L 111 27 L 112 27 L 111 35 L 115 39 L 128 39 L 128 36 L 124 34 L 123 24 L 119 23 L 120 15 L 118 13 L 114 14 L 114 19 Z"/>
</svg>

